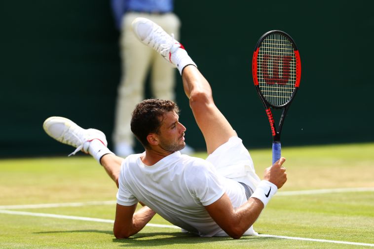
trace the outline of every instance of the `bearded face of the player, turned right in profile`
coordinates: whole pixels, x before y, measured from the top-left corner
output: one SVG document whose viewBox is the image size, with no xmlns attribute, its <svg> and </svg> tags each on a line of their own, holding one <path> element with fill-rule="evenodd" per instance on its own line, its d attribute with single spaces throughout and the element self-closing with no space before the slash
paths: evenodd
<svg viewBox="0 0 374 249">
<path fill-rule="evenodd" d="M 164 150 L 175 152 L 186 146 L 184 127 L 179 122 L 179 116 L 175 111 L 169 111 L 164 115 L 159 130 L 159 145 Z"/>
</svg>

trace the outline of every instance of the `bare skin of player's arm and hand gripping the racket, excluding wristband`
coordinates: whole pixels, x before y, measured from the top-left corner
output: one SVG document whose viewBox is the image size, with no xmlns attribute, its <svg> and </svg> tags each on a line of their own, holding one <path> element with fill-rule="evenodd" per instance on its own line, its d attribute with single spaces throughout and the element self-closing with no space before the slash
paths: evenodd
<svg viewBox="0 0 374 249">
<path fill-rule="evenodd" d="M 282 187 L 287 180 L 286 169 L 282 167 L 284 161 L 282 157 L 265 170 L 264 180 L 275 184 L 277 188 Z M 234 239 L 239 239 L 255 223 L 263 208 L 264 204 L 260 199 L 251 197 L 245 204 L 234 210 L 226 193 L 216 202 L 205 206 L 214 221 Z"/>
</svg>

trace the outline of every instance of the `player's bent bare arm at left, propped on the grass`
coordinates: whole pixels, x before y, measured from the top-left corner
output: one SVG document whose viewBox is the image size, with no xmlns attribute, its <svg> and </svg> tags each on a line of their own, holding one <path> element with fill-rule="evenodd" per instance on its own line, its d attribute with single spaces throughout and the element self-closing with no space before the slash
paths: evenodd
<svg viewBox="0 0 374 249">
<path fill-rule="evenodd" d="M 122 206 L 117 204 L 113 233 L 117 239 L 125 239 L 138 233 L 156 214 L 149 207 L 144 206 L 135 213 L 137 204 Z"/>
</svg>

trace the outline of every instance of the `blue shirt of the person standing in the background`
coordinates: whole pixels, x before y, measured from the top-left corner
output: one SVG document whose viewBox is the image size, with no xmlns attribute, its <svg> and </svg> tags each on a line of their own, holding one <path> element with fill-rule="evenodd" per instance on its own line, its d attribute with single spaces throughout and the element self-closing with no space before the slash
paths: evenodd
<svg viewBox="0 0 374 249">
<path fill-rule="evenodd" d="M 173 0 L 111 0 L 115 26 L 120 29 L 122 16 L 127 11 L 172 12 Z"/>
</svg>

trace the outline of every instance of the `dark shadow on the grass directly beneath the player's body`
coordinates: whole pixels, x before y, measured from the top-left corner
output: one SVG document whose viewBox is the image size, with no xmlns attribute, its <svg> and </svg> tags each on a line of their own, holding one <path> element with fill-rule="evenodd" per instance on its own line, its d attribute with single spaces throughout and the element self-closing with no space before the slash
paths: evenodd
<svg viewBox="0 0 374 249">
<path fill-rule="evenodd" d="M 241 242 L 259 241 L 267 238 L 257 236 L 245 236 L 240 239 Z M 158 247 L 177 244 L 203 244 L 212 242 L 232 241 L 230 237 L 199 237 L 188 233 L 139 233 L 131 236 L 128 239 L 113 239 L 114 243 L 119 244 L 120 247 Z"/>
</svg>

